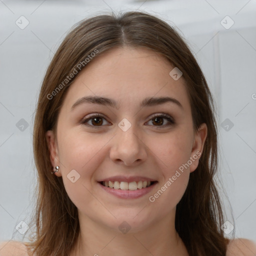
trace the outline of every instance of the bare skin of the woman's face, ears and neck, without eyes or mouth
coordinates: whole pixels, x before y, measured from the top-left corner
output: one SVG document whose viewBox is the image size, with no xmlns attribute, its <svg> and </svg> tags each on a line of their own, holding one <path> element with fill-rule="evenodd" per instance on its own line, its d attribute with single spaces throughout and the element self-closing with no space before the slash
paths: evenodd
<svg viewBox="0 0 256 256">
<path fill-rule="evenodd" d="M 79 243 L 74 255 L 188 255 L 175 231 L 176 204 L 188 183 L 194 159 L 176 180 L 155 199 L 156 193 L 178 168 L 196 152 L 202 152 L 207 127 L 193 130 L 191 108 L 182 76 L 174 80 L 173 69 L 158 53 L 146 48 L 114 48 L 86 65 L 64 98 L 56 133 L 46 133 L 54 173 L 62 176 L 65 189 L 79 215 Z M 83 96 L 102 96 L 117 101 L 119 108 L 93 103 L 72 105 Z M 145 97 L 169 96 L 172 102 L 140 107 Z M 81 121 L 99 113 L 101 126 Z M 153 114 L 170 115 L 175 123 L 157 125 Z M 123 131 L 118 123 L 126 118 L 131 127 Z M 98 119 L 97 119 L 98 121 Z M 92 120 L 88 124 L 96 125 Z M 80 177 L 72 183 L 67 174 L 75 169 Z M 98 180 L 113 175 L 142 175 L 157 180 L 154 189 L 136 199 L 117 198 L 105 192 Z M 118 226 L 130 226 L 122 233 Z"/>
</svg>

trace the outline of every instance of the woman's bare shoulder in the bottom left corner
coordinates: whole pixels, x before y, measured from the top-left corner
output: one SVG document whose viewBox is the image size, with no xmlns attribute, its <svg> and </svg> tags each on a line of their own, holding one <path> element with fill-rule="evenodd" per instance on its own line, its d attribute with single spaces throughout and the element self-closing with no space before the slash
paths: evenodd
<svg viewBox="0 0 256 256">
<path fill-rule="evenodd" d="M 0 242 L 1 256 L 29 256 L 26 245 L 18 241 L 4 241 Z"/>
</svg>

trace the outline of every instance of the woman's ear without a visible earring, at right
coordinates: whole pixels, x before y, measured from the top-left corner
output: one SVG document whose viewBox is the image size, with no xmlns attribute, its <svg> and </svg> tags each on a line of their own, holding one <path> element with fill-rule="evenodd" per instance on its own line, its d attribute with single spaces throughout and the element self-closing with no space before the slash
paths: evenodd
<svg viewBox="0 0 256 256">
<path fill-rule="evenodd" d="M 189 166 L 190 172 L 194 171 L 199 163 L 199 158 L 202 154 L 203 145 L 207 136 L 207 125 L 202 123 L 199 129 L 194 134 L 193 146 L 190 154 L 191 164 Z"/>
</svg>

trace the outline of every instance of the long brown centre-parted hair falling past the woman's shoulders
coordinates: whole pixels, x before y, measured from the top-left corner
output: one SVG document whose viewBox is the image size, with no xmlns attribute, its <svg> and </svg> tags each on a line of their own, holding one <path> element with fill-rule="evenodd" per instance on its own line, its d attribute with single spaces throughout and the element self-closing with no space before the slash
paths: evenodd
<svg viewBox="0 0 256 256">
<path fill-rule="evenodd" d="M 80 21 L 66 35 L 48 66 L 34 121 L 33 150 L 38 171 L 38 194 L 36 232 L 28 248 L 39 256 L 67 256 L 77 241 L 77 208 L 69 199 L 62 178 L 50 173 L 52 166 L 45 133 L 54 130 L 64 95 L 75 79 L 63 85 L 66 76 L 95 49 L 98 51 L 96 55 L 100 56 L 113 47 L 123 46 L 154 50 L 183 73 L 194 129 L 206 123 L 208 132 L 198 167 L 190 173 L 185 193 L 177 204 L 175 228 L 189 255 L 224 256 L 228 239 L 224 238 L 220 228 L 223 213 L 213 179 L 217 170 L 217 133 L 211 93 L 184 39 L 165 21 L 138 11 L 102 14 Z M 47 95 L 61 83 L 61 89 L 55 90 L 49 99 Z"/>
</svg>

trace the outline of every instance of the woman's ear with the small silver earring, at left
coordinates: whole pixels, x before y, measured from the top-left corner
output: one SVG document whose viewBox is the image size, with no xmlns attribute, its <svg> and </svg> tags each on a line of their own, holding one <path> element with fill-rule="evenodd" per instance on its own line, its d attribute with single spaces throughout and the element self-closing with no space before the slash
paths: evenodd
<svg viewBox="0 0 256 256">
<path fill-rule="evenodd" d="M 47 145 L 48 145 L 51 165 L 53 167 L 59 166 L 60 162 L 59 162 L 59 157 L 58 157 L 58 148 L 57 148 L 57 142 L 56 142 L 54 132 L 52 130 L 47 130 L 45 136 L 46 136 L 46 141 L 47 141 Z M 49 171 L 52 172 L 53 167 Z M 60 177 L 61 176 L 60 168 L 58 169 L 58 172 L 55 172 L 54 174 L 56 176 Z"/>
</svg>

